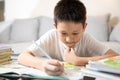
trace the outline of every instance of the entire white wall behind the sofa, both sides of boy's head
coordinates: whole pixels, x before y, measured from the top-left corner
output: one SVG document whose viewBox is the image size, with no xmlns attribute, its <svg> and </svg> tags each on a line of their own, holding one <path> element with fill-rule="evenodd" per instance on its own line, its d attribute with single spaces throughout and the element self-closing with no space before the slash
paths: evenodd
<svg viewBox="0 0 120 80">
<path fill-rule="evenodd" d="M 5 0 L 5 20 L 37 16 L 53 17 L 54 6 L 59 0 Z M 120 0 L 81 0 L 88 15 L 111 13 L 120 17 Z"/>
</svg>

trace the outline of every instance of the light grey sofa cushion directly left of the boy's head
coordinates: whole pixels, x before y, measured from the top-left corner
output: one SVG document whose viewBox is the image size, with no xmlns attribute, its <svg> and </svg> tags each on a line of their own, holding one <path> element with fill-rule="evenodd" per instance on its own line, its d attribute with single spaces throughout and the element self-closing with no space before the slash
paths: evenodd
<svg viewBox="0 0 120 80">
<path fill-rule="evenodd" d="M 46 16 L 39 17 L 39 37 L 53 28 L 53 19 Z"/>
</svg>

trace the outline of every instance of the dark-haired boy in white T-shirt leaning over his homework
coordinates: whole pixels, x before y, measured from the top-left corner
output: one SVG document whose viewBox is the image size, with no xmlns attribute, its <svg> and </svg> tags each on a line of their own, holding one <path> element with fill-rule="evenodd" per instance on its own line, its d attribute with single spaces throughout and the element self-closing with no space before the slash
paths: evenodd
<svg viewBox="0 0 120 80">
<path fill-rule="evenodd" d="M 60 0 L 54 9 L 54 21 L 56 29 L 36 41 L 52 59 L 45 58 L 32 44 L 19 55 L 20 64 L 43 70 L 49 75 L 60 75 L 64 69 L 62 61 L 80 66 L 89 60 L 117 55 L 85 32 L 86 8 L 79 0 Z"/>
</svg>

